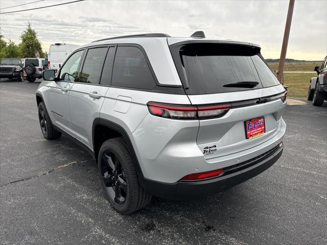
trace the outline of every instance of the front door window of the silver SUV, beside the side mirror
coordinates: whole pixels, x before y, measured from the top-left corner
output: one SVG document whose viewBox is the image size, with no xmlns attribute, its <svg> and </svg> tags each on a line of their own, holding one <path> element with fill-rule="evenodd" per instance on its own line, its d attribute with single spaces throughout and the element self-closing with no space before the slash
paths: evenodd
<svg viewBox="0 0 327 245">
<path fill-rule="evenodd" d="M 80 63 L 83 50 L 73 54 L 60 70 L 60 80 L 65 82 L 77 82 L 78 79 L 78 65 Z"/>
</svg>

